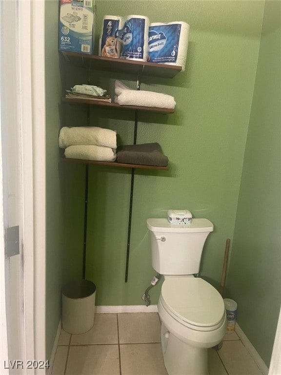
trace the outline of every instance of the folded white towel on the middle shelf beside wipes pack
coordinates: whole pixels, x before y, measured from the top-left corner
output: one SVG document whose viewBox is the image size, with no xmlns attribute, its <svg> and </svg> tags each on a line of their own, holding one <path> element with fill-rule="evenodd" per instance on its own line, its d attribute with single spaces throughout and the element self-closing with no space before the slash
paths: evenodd
<svg viewBox="0 0 281 375">
<path fill-rule="evenodd" d="M 173 96 L 152 91 L 133 90 L 120 81 L 115 81 L 115 103 L 174 109 Z"/>
</svg>

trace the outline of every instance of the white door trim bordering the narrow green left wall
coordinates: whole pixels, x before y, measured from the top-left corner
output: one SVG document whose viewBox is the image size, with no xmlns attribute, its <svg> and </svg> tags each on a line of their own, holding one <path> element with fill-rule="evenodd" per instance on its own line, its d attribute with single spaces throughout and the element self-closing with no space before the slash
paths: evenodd
<svg viewBox="0 0 281 375">
<path fill-rule="evenodd" d="M 45 13 L 44 0 L 19 4 L 25 356 L 39 361 L 46 359 Z"/>
</svg>

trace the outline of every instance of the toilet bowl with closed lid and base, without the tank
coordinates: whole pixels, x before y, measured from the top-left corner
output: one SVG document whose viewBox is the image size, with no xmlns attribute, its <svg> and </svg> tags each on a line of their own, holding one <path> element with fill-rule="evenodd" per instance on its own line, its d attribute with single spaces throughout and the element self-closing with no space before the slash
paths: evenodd
<svg viewBox="0 0 281 375">
<path fill-rule="evenodd" d="M 207 375 L 207 349 L 221 342 L 227 319 L 221 295 L 201 278 L 165 279 L 158 302 L 169 375 Z"/>
</svg>

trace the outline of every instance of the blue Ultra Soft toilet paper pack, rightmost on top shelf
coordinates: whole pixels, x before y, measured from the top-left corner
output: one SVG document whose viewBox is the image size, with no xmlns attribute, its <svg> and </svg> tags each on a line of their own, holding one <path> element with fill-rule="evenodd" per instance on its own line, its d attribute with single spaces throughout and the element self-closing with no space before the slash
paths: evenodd
<svg viewBox="0 0 281 375">
<path fill-rule="evenodd" d="M 186 22 L 155 22 L 149 26 L 149 62 L 179 65 L 185 68 L 188 34 L 190 26 Z"/>
</svg>

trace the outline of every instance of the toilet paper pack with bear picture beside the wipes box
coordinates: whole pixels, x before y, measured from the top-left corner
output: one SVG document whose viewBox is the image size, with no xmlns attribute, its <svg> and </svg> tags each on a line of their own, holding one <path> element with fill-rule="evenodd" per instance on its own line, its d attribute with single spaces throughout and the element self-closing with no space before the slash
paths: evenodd
<svg viewBox="0 0 281 375">
<path fill-rule="evenodd" d="M 121 42 L 116 38 L 117 31 L 123 27 L 120 16 L 104 16 L 100 32 L 99 55 L 103 57 L 120 57 Z"/>
</svg>

